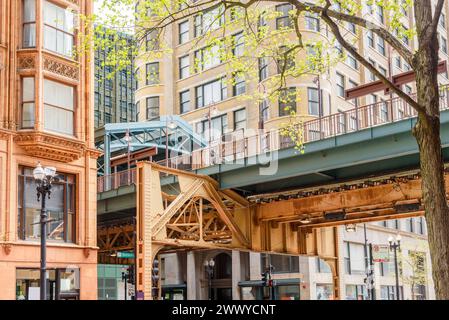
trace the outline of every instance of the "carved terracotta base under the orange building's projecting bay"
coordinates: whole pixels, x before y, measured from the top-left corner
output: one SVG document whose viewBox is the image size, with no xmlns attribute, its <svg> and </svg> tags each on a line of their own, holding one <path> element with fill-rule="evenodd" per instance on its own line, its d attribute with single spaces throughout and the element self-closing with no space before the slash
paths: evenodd
<svg viewBox="0 0 449 320">
<path fill-rule="evenodd" d="M 32 156 L 64 163 L 81 158 L 86 150 L 86 144 L 82 141 L 42 132 L 18 133 L 14 141 Z"/>
</svg>

